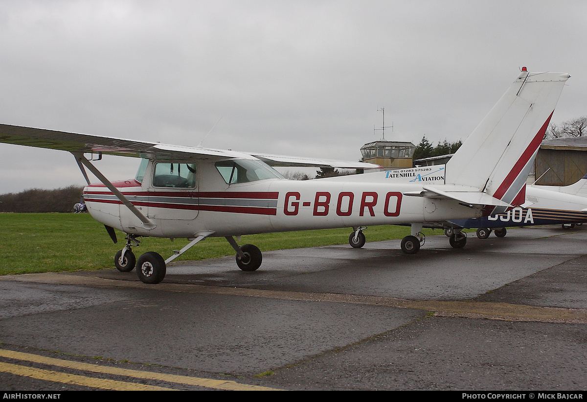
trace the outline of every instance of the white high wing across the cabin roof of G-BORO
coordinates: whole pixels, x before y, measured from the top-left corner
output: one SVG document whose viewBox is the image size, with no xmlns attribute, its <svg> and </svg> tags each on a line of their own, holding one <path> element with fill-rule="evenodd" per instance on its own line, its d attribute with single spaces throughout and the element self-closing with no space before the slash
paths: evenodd
<svg viewBox="0 0 587 402">
<path fill-rule="evenodd" d="M 179 146 L 158 142 L 135 141 L 122 138 L 68 133 L 55 130 L 0 124 L 0 142 L 65 150 L 72 153 L 99 153 L 103 155 L 133 156 L 157 159 L 258 158 L 272 166 L 332 166 L 348 169 L 380 167 L 372 163 L 336 160 L 303 159 L 295 156 L 263 155 L 194 146 Z"/>
</svg>

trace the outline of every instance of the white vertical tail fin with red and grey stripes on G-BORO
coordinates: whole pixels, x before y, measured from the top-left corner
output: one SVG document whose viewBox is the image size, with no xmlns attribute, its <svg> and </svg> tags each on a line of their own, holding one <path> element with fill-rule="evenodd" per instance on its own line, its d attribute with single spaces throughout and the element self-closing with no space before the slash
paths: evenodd
<svg viewBox="0 0 587 402">
<path fill-rule="evenodd" d="M 522 71 L 448 161 L 445 183 L 477 187 L 514 202 L 568 78 L 563 73 Z M 496 210 L 491 213 L 500 213 Z"/>
</svg>

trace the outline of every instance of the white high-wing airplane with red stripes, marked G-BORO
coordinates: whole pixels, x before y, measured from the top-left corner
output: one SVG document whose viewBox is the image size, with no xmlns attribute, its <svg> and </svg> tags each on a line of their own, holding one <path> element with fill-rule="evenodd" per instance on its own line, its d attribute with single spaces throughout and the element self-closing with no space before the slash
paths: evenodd
<svg viewBox="0 0 587 402">
<path fill-rule="evenodd" d="M 364 241 L 363 226 L 411 225 L 402 250 L 415 253 L 427 222 L 468 219 L 519 205 L 532 160 L 554 112 L 566 73 L 529 73 L 522 69 L 507 92 L 446 165 L 443 184 L 394 183 L 387 172 L 315 180 L 285 180 L 274 166 L 307 166 L 309 160 L 229 150 L 137 142 L 102 136 L 0 125 L 0 142 L 72 153 L 101 184 L 88 185 L 90 214 L 126 233 L 126 246 L 114 263 L 121 271 L 137 266 L 144 283 L 159 283 L 166 264 L 211 236 L 225 237 L 240 269 L 261 266 L 261 252 L 239 247 L 234 236 L 290 230 L 352 227 Z M 85 153 L 143 158 L 134 179 L 110 182 Z M 314 161 L 316 162 L 316 161 Z M 311 163 L 336 167 L 370 164 Z M 410 174 L 410 169 L 404 169 Z M 454 233 L 458 239 L 460 233 Z M 164 260 L 146 252 L 135 259 L 137 237 L 187 238 L 190 243 Z"/>
</svg>

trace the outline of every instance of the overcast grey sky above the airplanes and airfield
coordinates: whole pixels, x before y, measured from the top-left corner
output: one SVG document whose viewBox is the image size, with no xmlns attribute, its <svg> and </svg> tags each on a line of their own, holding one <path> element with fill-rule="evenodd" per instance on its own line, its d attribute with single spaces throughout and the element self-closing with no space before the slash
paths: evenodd
<svg viewBox="0 0 587 402">
<path fill-rule="evenodd" d="M 585 1 L 0 0 L 0 123 L 359 160 L 462 139 L 522 66 L 587 115 Z M 104 158 L 110 179 L 134 158 Z M 83 184 L 72 155 L 0 144 L 0 193 Z"/>
</svg>

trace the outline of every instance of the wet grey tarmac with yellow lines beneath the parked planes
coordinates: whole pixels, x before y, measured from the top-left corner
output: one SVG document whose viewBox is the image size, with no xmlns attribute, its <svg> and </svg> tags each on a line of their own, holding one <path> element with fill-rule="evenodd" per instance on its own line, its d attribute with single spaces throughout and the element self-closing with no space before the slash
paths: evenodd
<svg viewBox="0 0 587 402">
<path fill-rule="evenodd" d="M 415 255 L 265 252 L 256 272 L 181 262 L 158 285 L 0 277 L 0 389 L 586 390 L 586 242 L 549 226 L 464 249 L 429 236 Z"/>
</svg>

